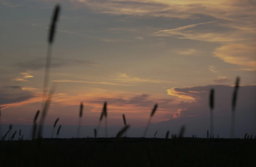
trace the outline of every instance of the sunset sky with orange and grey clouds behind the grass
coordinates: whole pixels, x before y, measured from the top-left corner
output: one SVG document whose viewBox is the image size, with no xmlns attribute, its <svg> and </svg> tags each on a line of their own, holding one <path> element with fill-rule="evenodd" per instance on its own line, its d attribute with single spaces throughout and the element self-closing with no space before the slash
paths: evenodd
<svg viewBox="0 0 256 167">
<path fill-rule="evenodd" d="M 46 125 L 77 125 L 83 102 L 81 124 L 96 126 L 107 101 L 110 133 L 122 114 L 138 130 L 157 103 L 152 133 L 185 124 L 187 135 L 204 134 L 215 88 L 215 131 L 228 137 L 240 76 L 236 133 L 256 133 L 255 0 L 0 0 L 1 124 L 31 125 L 41 109 L 57 3 Z"/>
</svg>

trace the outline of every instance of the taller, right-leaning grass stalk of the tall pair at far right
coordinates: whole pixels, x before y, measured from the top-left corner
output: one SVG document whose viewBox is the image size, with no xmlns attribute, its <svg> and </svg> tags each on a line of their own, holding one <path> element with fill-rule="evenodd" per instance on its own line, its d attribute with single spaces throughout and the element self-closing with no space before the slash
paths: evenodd
<svg viewBox="0 0 256 167">
<path fill-rule="evenodd" d="M 239 81 L 240 78 L 237 77 L 236 79 L 236 85 L 234 88 L 233 96 L 232 96 L 232 111 L 231 111 L 231 128 L 230 128 L 230 138 L 234 137 L 234 131 L 235 131 L 235 111 L 236 111 L 236 103 L 237 103 L 237 93 L 239 88 Z"/>
</svg>

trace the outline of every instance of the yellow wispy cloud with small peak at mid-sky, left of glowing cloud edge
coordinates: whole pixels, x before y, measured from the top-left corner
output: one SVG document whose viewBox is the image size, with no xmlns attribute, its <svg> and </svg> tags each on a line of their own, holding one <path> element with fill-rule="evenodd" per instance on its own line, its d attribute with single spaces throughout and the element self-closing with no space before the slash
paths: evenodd
<svg viewBox="0 0 256 167">
<path fill-rule="evenodd" d="M 114 76 L 114 79 L 126 83 L 174 83 L 173 81 L 164 81 L 159 79 L 142 79 L 139 77 L 130 77 L 126 73 L 118 74 Z"/>
</svg>

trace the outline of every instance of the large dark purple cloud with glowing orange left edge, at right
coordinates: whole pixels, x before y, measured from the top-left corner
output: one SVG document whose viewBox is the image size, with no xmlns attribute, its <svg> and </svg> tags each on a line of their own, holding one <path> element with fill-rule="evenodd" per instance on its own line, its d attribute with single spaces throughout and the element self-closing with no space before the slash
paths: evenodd
<svg viewBox="0 0 256 167">
<path fill-rule="evenodd" d="M 233 93 L 233 86 L 227 85 L 208 85 L 196 86 L 187 88 L 172 88 L 167 90 L 169 95 L 178 96 L 183 99 L 193 99 L 192 103 L 182 101 L 178 105 L 178 111 L 174 117 L 188 116 L 188 115 L 205 115 L 208 113 L 209 91 L 211 88 L 215 89 L 215 113 L 225 114 L 231 110 L 231 99 Z M 256 91 L 255 85 L 240 86 L 237 101 L 237 112 L 253 113 L 256 105 L 253 102 L 256 95 L 252 92 Z M 254 99 L 254 100 L 253 100 Z M 246 110 L 246 112 L 245 112 Z"/>
</svg>

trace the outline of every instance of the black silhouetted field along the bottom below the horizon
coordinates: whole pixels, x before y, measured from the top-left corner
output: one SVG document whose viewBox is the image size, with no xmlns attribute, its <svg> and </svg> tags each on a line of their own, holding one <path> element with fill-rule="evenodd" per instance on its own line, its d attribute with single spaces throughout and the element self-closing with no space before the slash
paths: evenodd
<svg viewBox="0 0 256 167">
<path fill-rule="evenodd" d="M 256 166 L 256 139 L 1 141 L 0 166 Z"/>
</svg>

